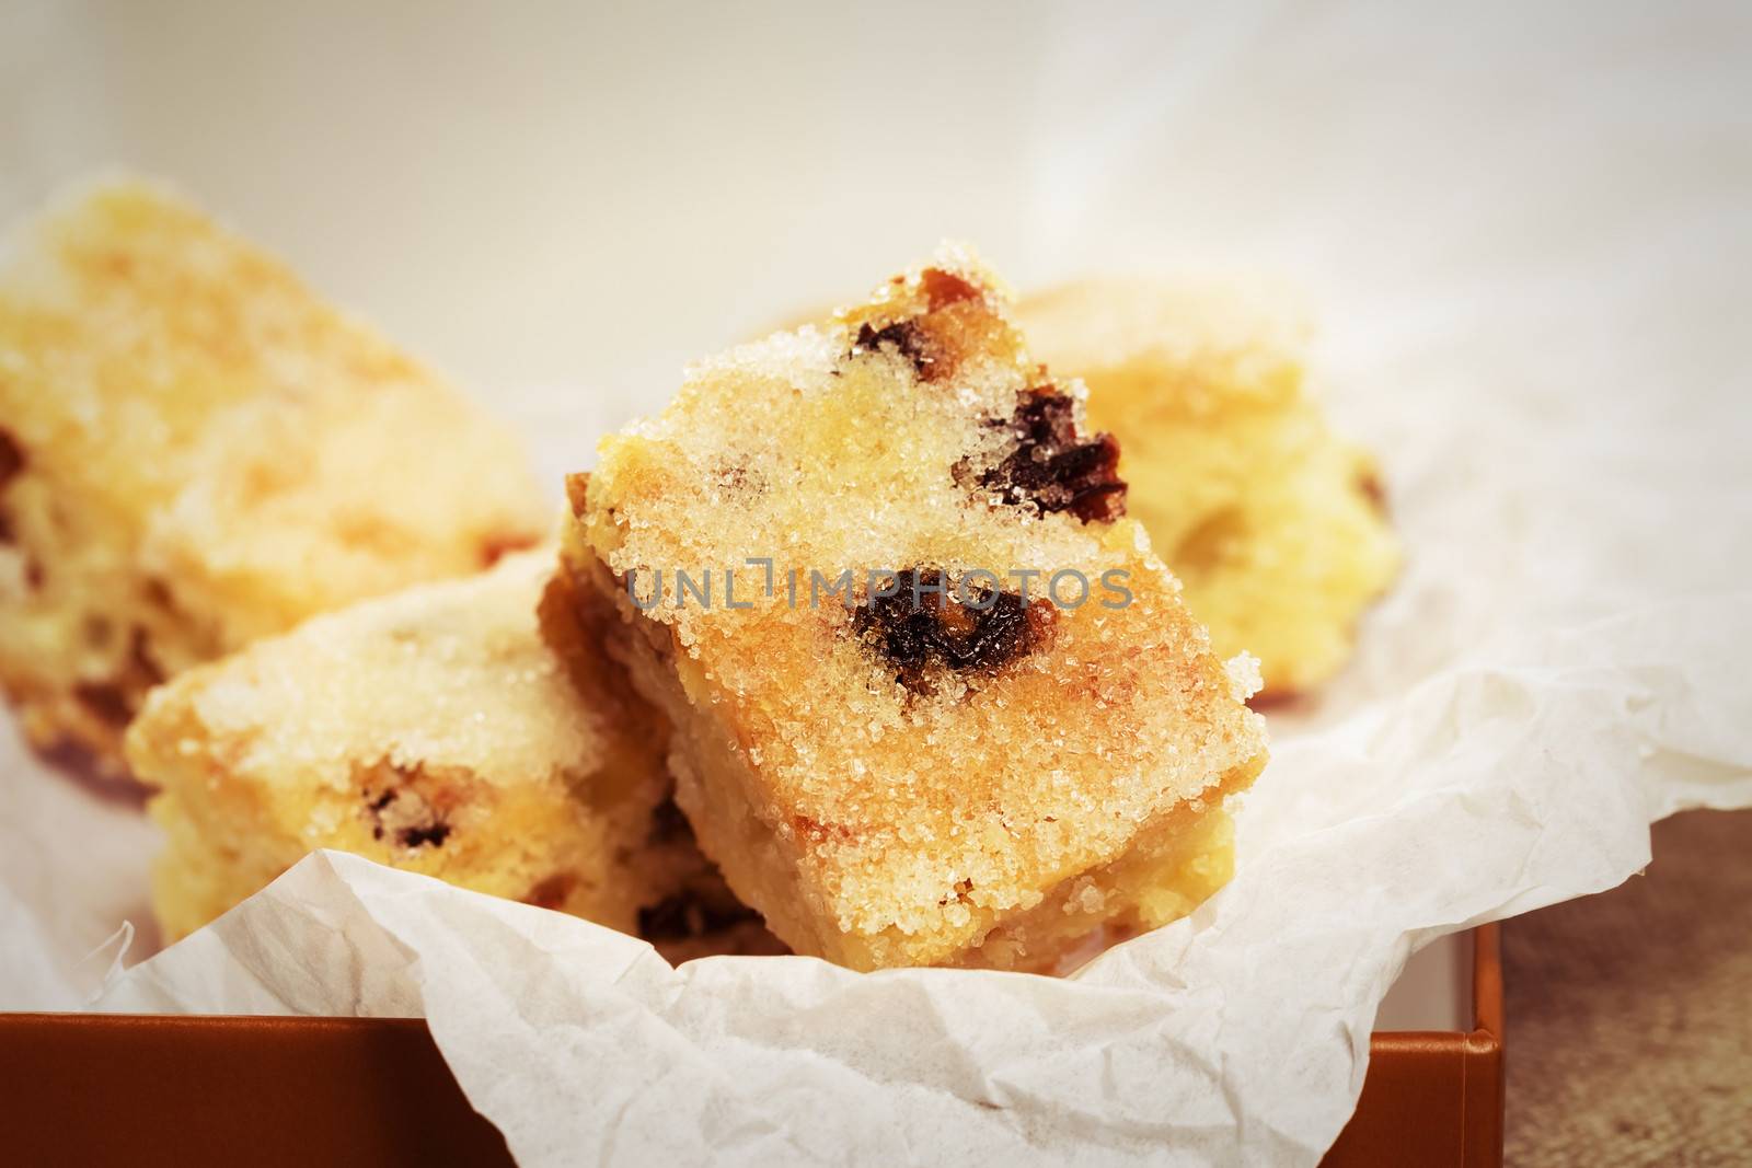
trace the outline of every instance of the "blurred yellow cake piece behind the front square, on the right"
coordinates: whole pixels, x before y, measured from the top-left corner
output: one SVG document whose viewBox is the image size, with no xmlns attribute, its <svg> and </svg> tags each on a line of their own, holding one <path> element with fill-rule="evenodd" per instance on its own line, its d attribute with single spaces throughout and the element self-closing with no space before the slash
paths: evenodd
<svg viewBox="0 0 1752 1168">
<path fill-rule="evenodd" d="M 1221 655 L 1265 693 L 1319 685 L 1398 573 L 1374 459 L 1326 426 L 1300 320 L 1235 291 L 1091 280 L 1027 296 L 1035 352 L 1090 387 L 1128 506 Z"/>
</svg>

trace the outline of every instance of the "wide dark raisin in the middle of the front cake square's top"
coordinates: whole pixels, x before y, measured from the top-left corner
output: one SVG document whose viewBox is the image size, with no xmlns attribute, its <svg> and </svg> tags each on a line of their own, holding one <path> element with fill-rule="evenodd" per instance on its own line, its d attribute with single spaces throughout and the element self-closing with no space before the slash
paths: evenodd
<svg viewBox="0 0 1752 1168">
<path fill-rule="evenodd" d="M 851 618 L 895 669 L 906 688 L 929 688 L 929 667 L 993 672 L 1041 644 L 1051 616 L 1037 611 L 1051 601 L 1023 602 L 1018 592 L 979 588 L 962 604 L 943 573 L 908 569 L 895 574 L 894 595 L 872 595 Z"/>
</svg>

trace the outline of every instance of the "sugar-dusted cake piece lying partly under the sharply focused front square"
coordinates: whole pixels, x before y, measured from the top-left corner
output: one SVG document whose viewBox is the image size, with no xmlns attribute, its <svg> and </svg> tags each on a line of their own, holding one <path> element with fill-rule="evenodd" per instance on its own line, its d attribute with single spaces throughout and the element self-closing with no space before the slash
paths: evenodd
<svg viewBox="0 0 1752 1168">
<path fill-rule="evenodd" d="M 625 932 L 697 888 L 687 841 L 662 834 L 661 862 L 648 849 L 668 799 L 661 718 L 590 651 L 589 604 L 548 601 L 575 625 L 561 648 L 543 637 L 552 578 L 552 550 L 517 553 L 315 616 L 154 690 L 126 749 L 159 788 L 166 939 L 315 848 Z"/>
</svg>

